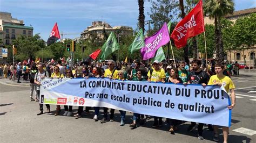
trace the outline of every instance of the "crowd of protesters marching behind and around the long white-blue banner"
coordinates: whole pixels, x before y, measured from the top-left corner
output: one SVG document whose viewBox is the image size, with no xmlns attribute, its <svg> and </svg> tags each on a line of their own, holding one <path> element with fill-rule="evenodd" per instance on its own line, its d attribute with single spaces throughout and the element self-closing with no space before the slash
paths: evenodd
<svg viewBox="0 0 256 143">
<path fill-rule="evenodd" d="M 233 74 L 239 74 L 237 67 L 238 65 L 228 64 L 226 66 L 221 64 L 213 65 L 211 62 L 206 65 L 202 64 L 200 60 L 193 60 L 190 65 L 186 62 L 180 61 L 177 65 L 174 62 L 159 62 L 153 61 L 152 63 L 146 63 L 144 61 L 139 62 L 134 60 L 131 63 L 126 62 L 114 62 L 113 60 L 106 60 L 104 62 L 82 62 L 80 64 L 73 65 L 71 69 L 69 64 L 63 64 L 61 60 L 57 63 L 52 62 L 31 62 L 21 63 L 19 62 L 15 67 L 6 63 L 3 67 L 3 74 L 5 78 L 14 78 L 17 76 L 17 82 L 20 83 L 20 78 L 23 80 L 30 80 L 30 101 L 38 102 L 40 95 L 41 80 L 44 77 L 51 78 L 112 78 L 118 80 L 131 80 L 131 81 L 142 81 L 142 82 L 170 82 L 174 84 L 201 84 L 206 85 L 224 85 L 225 90 L 231 92 L 232 104 L 228 106 L 232 109 L 235 105 L 235 94 L 234 84 L 229 77 L 231 75 L 231 66 L 234 67 L 235 72 Z M 206 69 L 207 68 L 207 69 Z M 14 70 L 13 70 L 14 69 Z M 14 73 L 13 73 L 14 71 Z M 36 91 L 36 95 L 33 98 L 33 91 Z M 47 113 L 51 113 L 50 105 L 45 104 Z M 93 107 L 95 115 L 93 119 L 99 120 L 99 109 L 100 107 Z M 43 104 L 39 104 L 40 112 L 37 115 L 43 114 Z M 64 106 L 63 116 L 72 116 L 72 106 Z M 80 118 L 83 112 L 83 106 L 78 107 L 78 111 L 73 116 Z M 85 112 L 89 113 L 91 107 L 86 106 Z M 108 120 L 108 109 L 103 107 L 103 118 L 100 123 L 106 123 L 107 121 L 114 120 L 114 109 L 110 109 L 110 120 Z M 125 125 L 125 111 L 119 111 L 121 115 L 120 126 Z M 60 105 L 57 105 L 55 116 L 60 113 Z M 163 126 L 163 118 L 153 117 L 154 123 L 153 128 Z M 134 129 L 139 125 L 145 124 L 146 120 L 149 119 L 147 115 L 140 115 L 133 113 L 133 120 L 130 125 L 131 129 Z M 166 119 L 167 124 L 170 126 L 170 132 L 174 134 L 178 130 L 178 126 L 184 121 L 176 119 Z M 187 131 L 192 132 L 196 123 L 191 122 L 188 126 Z M 203 123 L 198 124 L 198 138 L 204 139 L 203 137 Z M 214 131 L 213 140 L 218 141 L 218 127 L 208 125 L 210 131 Z M 224 142 L 227 141 L 228 127 L 223 127 Z"/>
</svg>

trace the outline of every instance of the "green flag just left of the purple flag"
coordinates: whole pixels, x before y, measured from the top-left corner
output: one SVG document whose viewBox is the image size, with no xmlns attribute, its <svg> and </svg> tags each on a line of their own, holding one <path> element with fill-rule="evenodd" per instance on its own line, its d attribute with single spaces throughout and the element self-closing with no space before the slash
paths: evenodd
<svg viewBox="0 0 256 143">
<path fill-rule="evenodd" d="M 134 41 L 129 47 L 129 52 L 132 54 L 145 46 L 143 30 L 140 28 L 139 33 L 136 35 Z"/>
</svg>

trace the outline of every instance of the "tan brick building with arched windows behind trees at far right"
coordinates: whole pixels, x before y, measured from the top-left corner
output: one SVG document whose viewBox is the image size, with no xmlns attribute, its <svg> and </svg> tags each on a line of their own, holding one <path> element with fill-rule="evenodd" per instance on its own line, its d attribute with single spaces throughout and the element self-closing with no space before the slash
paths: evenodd
<svg viewBox="0 0 256 143">
<path fill-rule="evenodd" d="M 235 23 L 235 21 L 239 18 L 247 17 L 252 13 L 256 13 L 256 8 L 251 9 L 245 9 L 245 10 L 239 10 L 234 11 L 232 15 L 227 15 L 224 18 L 231 20 Z M 214 25 L 214 19 L 210 19 L 209 17 L 204 18 L 205 24 L 213 24 Z M 228 60 L 230 62 L 238 61 L 238 63 L 244 63 L 247 66 L 256 67 L 255 62 L 255 53 L 256 53 L 256 46 L 244 48 L 244 50 L 232 50 L 232 51 L 225 51 L 227 56 L 225 57 L 225 60 Z"/>
</svg>

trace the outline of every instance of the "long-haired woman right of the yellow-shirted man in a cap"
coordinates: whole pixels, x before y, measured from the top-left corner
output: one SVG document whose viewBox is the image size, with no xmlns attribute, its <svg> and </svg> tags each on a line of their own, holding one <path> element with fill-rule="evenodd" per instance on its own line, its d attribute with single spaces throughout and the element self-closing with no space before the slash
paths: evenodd
<svg viewBox="0 0 256 143">
<path fill-rule="evenodd" d="M 181 78 L 179 78 L 179 70 L 177 68 L 172 68 L 171 70 L 167 70 L 170 77 L 168 78 L 167 82 L 169 83 L 181 83 L 182 84 L 182 80 Z M 166 119 L 168 125 L 170 126 L 170 132 L 171 134 L 174 134 L 174 131 L 178 130 L 177 125 L 179 124 L 180 120 L 176 120 L 176 119 Z"/>
</svg>

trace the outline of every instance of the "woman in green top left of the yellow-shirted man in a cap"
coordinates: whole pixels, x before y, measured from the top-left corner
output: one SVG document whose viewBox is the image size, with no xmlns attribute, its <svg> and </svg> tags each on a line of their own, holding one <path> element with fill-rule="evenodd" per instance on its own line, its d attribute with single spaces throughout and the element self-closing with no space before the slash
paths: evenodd
<svg viewBox="0 0 256 143">
<path fill-rule="evenodd" d="M 136 78 L 133 78 L 132 81 L 146 81 L 142 77 L 142 70 L 137 70 Z M 144 124 L 144 115 L 140 115 L 139 113 L 133 113 L 133 123 L 130 125 L 131 129 L 134 129 L 137 127 L 137 120 L 140 120 L 140 124 Z"/>
</svg>

